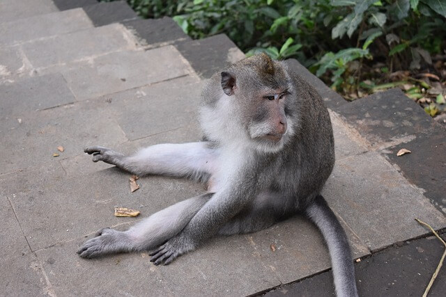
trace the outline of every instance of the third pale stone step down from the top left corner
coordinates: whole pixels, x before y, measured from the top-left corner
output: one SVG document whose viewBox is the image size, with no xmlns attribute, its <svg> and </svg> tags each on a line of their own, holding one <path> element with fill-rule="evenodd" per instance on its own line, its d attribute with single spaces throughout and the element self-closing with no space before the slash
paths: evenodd
<svg viewBox="0 0 446 297">
<path fill-rule="evenodd" d="M 76 10 L 84 14 L 82 9 Z M 90 65 L 92 59 L 100 55 L 134 50 L 138 46 L 137 40 L 123 25 L 111 24 L 0 48 L 0 65 L 3 65 L 0 83 L 68 70 L 72 63 Z"/>
</svg>

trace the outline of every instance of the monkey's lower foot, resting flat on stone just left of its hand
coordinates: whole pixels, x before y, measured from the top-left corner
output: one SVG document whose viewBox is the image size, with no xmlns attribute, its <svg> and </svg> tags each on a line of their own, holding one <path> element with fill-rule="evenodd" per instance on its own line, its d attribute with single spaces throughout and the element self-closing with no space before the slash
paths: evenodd
<svg viewBox="0 0 446 297">
<path fill-rule="evenodd" d="M 77 254 L 82 258 L 93 258 L 112 252 L 121 252 L 127 246 L 124 232 L 110 228 L 104 228 L 95 235 L 96 237 L 86 241 L 77 250 Z"/>
</svg>

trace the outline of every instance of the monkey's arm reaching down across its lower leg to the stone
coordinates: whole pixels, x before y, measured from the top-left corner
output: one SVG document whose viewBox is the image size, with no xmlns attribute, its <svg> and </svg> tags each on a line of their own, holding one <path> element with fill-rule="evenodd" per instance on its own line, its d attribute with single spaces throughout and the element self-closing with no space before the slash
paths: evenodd
<svg viewBox="0 0 446 297">
<path fill-rule="evenodd" d="M 151 252 L 151 262 L 167 265 L 180 255 L 195 250 L 202 241 L 216 234 L 224 223 L 254 200 L 258 193 L 256 177 L 241 172 L 233 177 L 231 182 L 226 183 L 220 192 L 204 204 L 178 235 Z"/>
</svg>

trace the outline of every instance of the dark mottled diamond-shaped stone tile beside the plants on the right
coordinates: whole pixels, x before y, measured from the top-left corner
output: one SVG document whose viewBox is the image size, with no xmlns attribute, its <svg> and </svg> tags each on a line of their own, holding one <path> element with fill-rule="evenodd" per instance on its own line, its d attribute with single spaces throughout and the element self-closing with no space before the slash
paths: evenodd
<svg viewBox="0 0 446 297">
<path fill-rule="evenodd" d="M 357 99 L 334 111 L 378 149 L 406 143 L 438 125 L 400 89 Z"/>
</svg>

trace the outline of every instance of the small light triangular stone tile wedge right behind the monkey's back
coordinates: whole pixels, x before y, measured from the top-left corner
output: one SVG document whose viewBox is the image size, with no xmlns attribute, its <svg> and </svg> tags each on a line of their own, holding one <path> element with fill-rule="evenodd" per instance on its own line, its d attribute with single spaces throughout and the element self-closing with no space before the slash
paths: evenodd
<svg viewBox="0 0 446 297">
<path fill-rule="evenodd" d="M 330 118 L 334 134 L 334 155 L 337 160 L 368 151 L 364 140 L 357 136 L 357 131 L 348 127 L 337 113 L 330 111 Z"/>
</svg>

